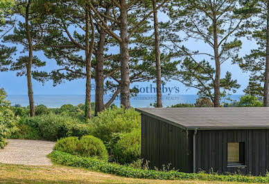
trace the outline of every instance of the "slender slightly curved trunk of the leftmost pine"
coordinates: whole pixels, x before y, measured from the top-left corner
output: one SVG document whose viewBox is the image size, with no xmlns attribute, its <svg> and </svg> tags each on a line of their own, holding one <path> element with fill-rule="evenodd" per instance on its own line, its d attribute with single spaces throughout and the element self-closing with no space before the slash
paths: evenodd
<svg viewBox="0 0 269 184">
<path fill-rule="evenodd" d="M 30 8 L 31 1 L 28 1 L 26 6 L 26 15 L 25 15 L 25 26 L 26 26 L 26 36 L 28 40 L 28 63 L 26 64 L 26 75 L 27 75 L 27 85 L 28 85 L 28 98 L 29 98 L 29 105 L 30 105 L 30 116 L 35 116 L 35 102 L 33 100 L 33 86 L 32 86 L 32 74 L 31 68 L 33 63 L 33 43 L 32 37 L 30 33 L 30 26 L 29 26 L 29 8 Z"/>
</svg>

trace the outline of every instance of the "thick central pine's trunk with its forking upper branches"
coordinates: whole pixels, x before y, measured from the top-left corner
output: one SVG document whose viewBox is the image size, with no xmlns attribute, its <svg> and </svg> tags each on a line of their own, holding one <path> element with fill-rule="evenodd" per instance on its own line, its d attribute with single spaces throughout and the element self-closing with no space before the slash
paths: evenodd
<svg viewBox="0 0 269 184">
<path fill-rule="evenodd" d="M 157 8 L 159 9 L 166 3 L 167 0 L 164 0 Z M 112 8 L 114 12 L 119 12 L 119 15 L 116 13 L 112 14 L 111 16 L 107 17 L 103 15 L 102 12 L 94 8 L 95 4 L 103 4 L 103 3 L 110 3 L 112 4 Z M 139 30 L 139 27 L 144 24 L 146 19 L 153 14 L 154 11 L 149 12 L 144 17 L 142 17 L 141 21 L 137 24 L 130 27 L 130 22 L 128 22 L 128 18 L 130 18 L 129 10 L 134 6 L 137 6 L 137 3 L 140 3 L 139 0 L 134 1 L 126 1 L 126 0 L 112 0 L 110 2 L 107 1 L 96 1 L 94 3 L 89 3 L 89 7 L 92 10 L 92 16 L 96 20 L 96 23 L 101 26 L 110 36 L 114 37 L 114 39 L 119 42 L 120 46 L 120 57 L 121 57 L 121 104 L 126 109 L 130 108 L 130 66 L 129 66 L 129 44 L 130 44 L 130 37 Z M 141 5 L 140 5 L 141 6 Z M 139 8 L 137 8 L 139 10 Z M 116 24 L 116 28 L 119 30 L 119 35 L 117 35 L 105 22 L 103 18 L 110 19 L 112 24 Z M 100 23 L 101 21 L 101 23 Z"/>
</svg>

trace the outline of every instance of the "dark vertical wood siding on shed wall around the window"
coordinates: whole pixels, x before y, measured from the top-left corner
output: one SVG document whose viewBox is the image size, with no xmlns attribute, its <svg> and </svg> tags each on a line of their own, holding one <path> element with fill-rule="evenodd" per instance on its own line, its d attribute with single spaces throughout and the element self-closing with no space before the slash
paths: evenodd
<svg viewBox="0 0 269 184">
<path fill-rule="evenodd" d="M 245 168 L 227 167 L 227 142 L 245 142 Z M 269 130 L 198 131 L 196 172 L 239 172 L 264 175 L 269 171 Z"/>
</svg>

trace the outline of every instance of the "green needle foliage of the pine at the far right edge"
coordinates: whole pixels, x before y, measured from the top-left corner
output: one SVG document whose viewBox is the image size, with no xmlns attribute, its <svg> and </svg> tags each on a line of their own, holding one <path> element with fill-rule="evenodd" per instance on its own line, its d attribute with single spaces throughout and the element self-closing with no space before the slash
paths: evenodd
<svg viewBox="0 0 269 184">
<path fill-rule="evenodd" d="M 238 36 L 247 37 L 254 40 L 258 45 L 252 48 L 250 53 L 243 58 L 238 58 L 234 63 L 238 64 L 243 72 L 250 75 L 248 86 L 244 90 L 247 95 L 263 97 L 263 84 L 265 81 L 266 66 L 266 44 L 267 44 L 267 10 L 268 1 L 241 1 L 245 6 L 237 14 L 252 13 L 254 19 L 249 19 L 241 28 L 241 34 Z"/>
</svg>

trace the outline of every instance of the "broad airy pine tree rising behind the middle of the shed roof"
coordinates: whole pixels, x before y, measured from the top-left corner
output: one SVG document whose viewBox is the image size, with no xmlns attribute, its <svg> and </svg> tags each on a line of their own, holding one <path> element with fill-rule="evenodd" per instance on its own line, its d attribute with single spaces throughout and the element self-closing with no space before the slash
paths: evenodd
<svg viewBox="0 0 269 184">
<path fill-rule="evenodd" d="M 227 90 L 235 92 L 239 87 L 231 73 L 227 72 L 223 79 L 220 77 L 221 65 L 236 59 L 242 45 L 234 36 L 249 16 L 234 14 L 238 8 L 241 6 L 233 0 L 173 1 L 168 10 L 172 26 L 164 25 L 170 27 L 166 40 L 176 49 L 175 57 L 182 59 L 180 74 L 175 79 L 198 89 L 199 95 L 211 98 L 214 107 L 220 107 L 220 98 Z M 184 35 L 180 39 L 182 32 Z M 184 40 L 189 39 L 205 42 L 210 50 L 201 52 L 186 48 Z"/>
</svg>

